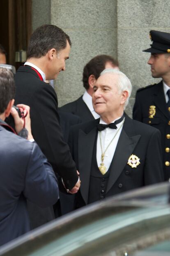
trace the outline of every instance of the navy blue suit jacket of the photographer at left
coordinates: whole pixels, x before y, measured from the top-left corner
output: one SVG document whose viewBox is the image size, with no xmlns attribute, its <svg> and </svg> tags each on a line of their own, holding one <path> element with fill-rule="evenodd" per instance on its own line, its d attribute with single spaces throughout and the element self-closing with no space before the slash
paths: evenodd
<svg viewBox="0 0 170 256">
<path fill-rule="evenodd" d="M 36 143 L 0 126 L 0 246 L 30 230 L 26 199 L 52 206 L 58 186 Z"/>
</svg>

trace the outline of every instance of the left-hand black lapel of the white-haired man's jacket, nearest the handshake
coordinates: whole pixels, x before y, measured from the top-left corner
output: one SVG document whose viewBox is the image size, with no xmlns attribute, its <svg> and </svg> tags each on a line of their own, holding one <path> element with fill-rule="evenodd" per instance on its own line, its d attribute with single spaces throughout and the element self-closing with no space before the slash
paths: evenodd
<svg viewBox="0 0 170 256">
<path fill-rule="evenodd" d="M 96 124 L 99 123 L 99 119 L 94 120 L 93 123 L 94 125 L 90 132 L 86 133 L 83 130 L 79 130 L 78 134 L 78 166 L 81 170 L 80 179 L 85 181 L 81 183 L 80 191 L 86 204 L 88 201 L 92 155 L 96 137 Z"/>
</svg>

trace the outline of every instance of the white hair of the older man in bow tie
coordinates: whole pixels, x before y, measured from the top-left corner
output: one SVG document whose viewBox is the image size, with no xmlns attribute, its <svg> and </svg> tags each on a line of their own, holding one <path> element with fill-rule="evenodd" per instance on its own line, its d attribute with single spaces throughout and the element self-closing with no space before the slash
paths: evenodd
<svg viewBox="0 0 170 256">
<path fill-rule="evenodd" d="M 127 99 L 124 103 L 124 109 L 125 109 L 129 103 L 129 98 L 130 98 L 131 92 L 132 92 L 131 81 L 123 72 L 119 71 L 116 68 L 106 68 L 101 72 L 100 76 L 104 75 L 104 74 L 117 74 L 118 75 L 117 88 L 119 90 L 119 93 L 121 93 L 123 91 L 128 92 Z"/>
</svg>

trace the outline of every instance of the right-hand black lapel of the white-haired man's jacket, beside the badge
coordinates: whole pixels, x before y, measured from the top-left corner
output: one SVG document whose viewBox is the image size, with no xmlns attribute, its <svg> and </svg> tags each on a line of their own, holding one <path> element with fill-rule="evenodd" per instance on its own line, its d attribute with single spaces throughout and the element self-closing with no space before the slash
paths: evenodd
<svg viewBox="0 0 170 256">
<path fill-rule="evenodd" d="M 113 157 L 106 193 L 108 193 L 110 188 L 117 181 L 117 178 L 122 173 L 130 155 L 133 153 L 133 150 L 140 139 L 140 135 L 134 136 L 135 133 L 133 132 L 133 130 L 134 128 L 132 125 L 132 121 L 128 116 L 126 116 L 124 126 L 120 134 L 119 141 L 117 143 L 117 147 Z"/>
</svg>

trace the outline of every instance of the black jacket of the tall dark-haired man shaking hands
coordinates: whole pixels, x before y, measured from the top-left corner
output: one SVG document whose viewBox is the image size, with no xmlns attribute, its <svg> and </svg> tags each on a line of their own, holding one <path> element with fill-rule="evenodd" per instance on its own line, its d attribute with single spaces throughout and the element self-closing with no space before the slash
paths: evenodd
<svg viewBox="0 0 170 256">
<path fill-rule="evenodd" d="M 62 176 L 67 188 L 73 188 L 78 176 L 59 124 L 55 90 L 42 82 L 30 66 L 21 66 L 17 70 L 15 82 L 15 104 L 30 106 L 31 129 L 35 141 L 55 173 Z"/>
</svg>

